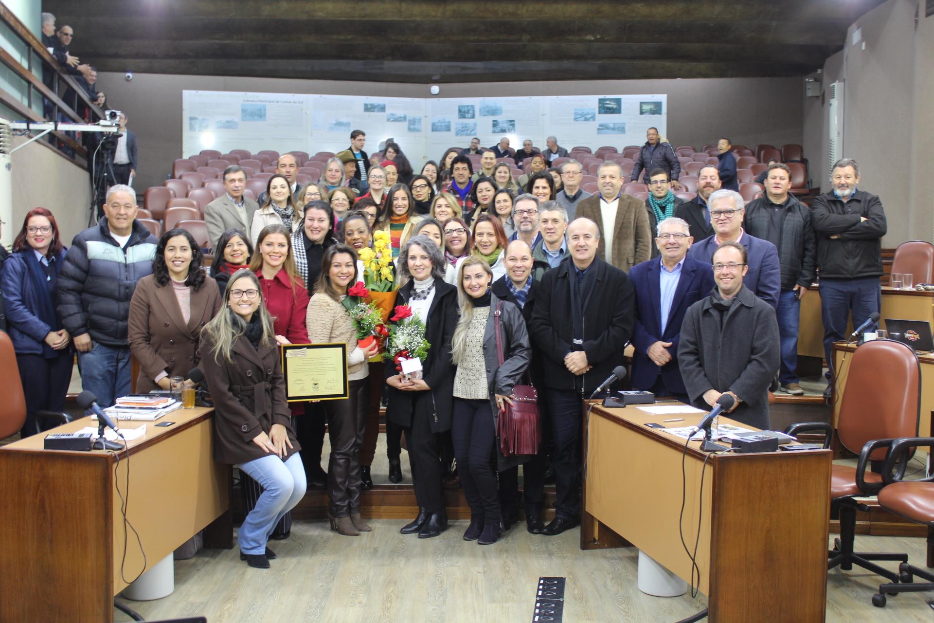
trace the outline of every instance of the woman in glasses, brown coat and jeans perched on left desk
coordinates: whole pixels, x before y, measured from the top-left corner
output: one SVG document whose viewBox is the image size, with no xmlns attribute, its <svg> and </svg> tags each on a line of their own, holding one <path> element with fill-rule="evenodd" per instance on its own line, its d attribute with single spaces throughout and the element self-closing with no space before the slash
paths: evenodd
<svg viewBox="0 0 934 623">
<path fill-rule="evenodd" d="M 276 523 L 304 497 L 301 447 L 291 428 L 273 320 L 250 270 L 231 276 L 226 308 L 205 326 L 201 369 L 214 400 L 214 459 L 237 465 L 262 495 L 237 533 L 240 559 L 269 568 Z"/>
</svg>

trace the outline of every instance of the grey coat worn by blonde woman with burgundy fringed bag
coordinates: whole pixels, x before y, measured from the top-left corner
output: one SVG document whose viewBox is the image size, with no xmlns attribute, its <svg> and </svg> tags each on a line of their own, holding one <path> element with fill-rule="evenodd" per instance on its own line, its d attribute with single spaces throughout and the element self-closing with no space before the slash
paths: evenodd
<svg viewBox="0 0 934 623">
<path fill-rule="evenodd" d="M 502 329 L 502 365 L 496 354 L 496 306 L 502 303 L 500 328 Z M 496 406 L 496 394 L 508 396 L 513 386 L 519 383 L 522 375 L 526 373 L 531 362 L 531 345 L 529 332 L 522 318 L 522 310 L 509 301 L 500 301 L 496 295 L 489 296 L 489 318 L 487 327 L 483 332 L 483 361 L 487 366 L 487 391 L 489 404 L 493 410 L 493 425 L 499 423 L 500 409 Z M 500 452 L 499 439 L 496 444 L 496 456 L 499 469 L 515 467 L 530 457 L 519 455 L 504 457 Z"/>
</svg>

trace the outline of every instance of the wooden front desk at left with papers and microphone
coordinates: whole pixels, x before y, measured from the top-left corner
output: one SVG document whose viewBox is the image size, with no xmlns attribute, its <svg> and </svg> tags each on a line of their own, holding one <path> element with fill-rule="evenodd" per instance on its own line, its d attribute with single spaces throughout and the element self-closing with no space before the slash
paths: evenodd
<svg viewBox="0 0 934 623">
<path fill-rule="evenodd" d="M 126 452 L 42 449 L 44 434 L 0 448 L 0 621 L 113 621 L 113 598 L 205 529 L 205 545 L 233 546 L 231 469 L 213 460 L 212 409 L 179 409 L 145 422 Z M 135 428 L 143 422 L 122 422 Z M 50 432 L 96 426 L 81 418 Z M 119 460 L 118 460 L 119 459 Z M 129 463 L 129 483 L 127 466 Z M 213 523 L 212 523 L 213 522 Z M 126 551 L 123 573 L 120 561 Z"/>
</svg>

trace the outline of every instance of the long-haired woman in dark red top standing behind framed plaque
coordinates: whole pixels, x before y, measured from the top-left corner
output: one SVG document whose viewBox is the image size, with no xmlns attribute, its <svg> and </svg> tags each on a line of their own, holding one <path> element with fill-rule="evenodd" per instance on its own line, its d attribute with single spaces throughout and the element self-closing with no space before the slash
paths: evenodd
<svg viewBox="0 0 934 623">
<path fill-rule="evenodd" d="M 307 344 L 308 329 L 305 317 L 308 313 L 308 290 L 305 289 L 302 277 L 295 269 L 289 230 L 282 225 L 268 225 L 262 228 L 256 241 L 256 251 L 253 253 L 249 269 L 260 279 L 262 302 L 273 319 L 276 344 Z M 290 404 L 292 428 L 299 437 L 302 429 L 307 430 L 308 427 L 302 427 L 301 422 L 296 421 L 295 416 L 304 414 L 307 411 L 306 405 L 311 404 Z M 308 414 L 304 417 L 313 416 Z M 302 443 L 301 440 L 299 443 Z M 313 458 L 310 460 L 314 462 Z M 314 465 L 311 467 L 313 468 Z M 318 457 L 318 471 L 320 470 L 320 457 Z M 241 478 L 243 475 L 241 474 Z M 255 497 L 259 497 L 259 486 L 242 488 L 252 491 Z M 245 496 L 254 497 L 246 493 Z M 245 503 L 249 504 L 249 502 L 250 500 L 245 498 Z M 255 503 L 255 500 L 252 502 Z M 290 528 L 291 516 L 286 515 L 276 525 L 276 530 L 270 538 L 284 539 L 289 536 Z"/>
</svg>

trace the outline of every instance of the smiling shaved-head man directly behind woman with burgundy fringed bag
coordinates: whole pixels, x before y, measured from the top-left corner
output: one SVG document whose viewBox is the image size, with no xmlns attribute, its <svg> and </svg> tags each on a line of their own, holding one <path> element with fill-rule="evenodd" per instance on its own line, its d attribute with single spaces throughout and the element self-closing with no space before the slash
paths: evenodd
<svg viewBox="0 0 934 623">
<path fill-rule="evenodd" d="M 526 325 L 531 320 L 532 311 L 535 309 L 535 296 L 538 293 L 539 284 L 535 281 L 534 275 L 537 269 L 542 272 L 548 271 L 551 267 L 548 262 L 535 260 L 532 257 L 531 248 L 521 240 L 513 240 L 503 251 L 505 259 L 503 264 L 506 267 L 506 274 L 493 282 L 493 295 L 501 301 L 509 301 L 516 304 L 522 310 L 522 318 Z M 539 417 L 545 418 L 545 400 L 541 391 L 544 387 L 542 379 L 542 358 L 534 350 L 532 345 L 532 361 L 529 366 L 532 384 L 539 388 Z M 545 421 L 541 422 L 545 425 Z M 547 427 L 545 426 L 545 429 Z M 545 434 L 543 434 L 543 439 Z M 531 460 L 523 463 L 523 503 L 526 513 L 526 528 L 532 534 L 541 534 L 545 529 L 540 515 L 542 513 L 542 500 L 544 496 L 544 477 L 545 477 L 546 457 L 544 449 L 540 449 Z M 508 530 L 516 521 L 518 513 L 518 467 L 511 467 L 500 473 L 500 505 L 502 507 L 502 525 Z"/>
</svg>

